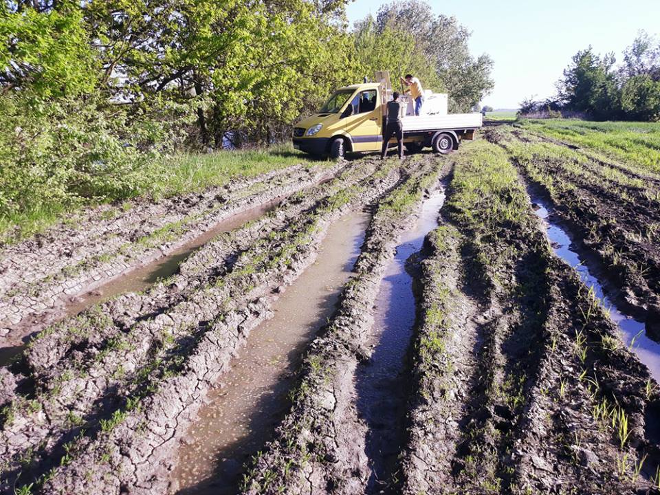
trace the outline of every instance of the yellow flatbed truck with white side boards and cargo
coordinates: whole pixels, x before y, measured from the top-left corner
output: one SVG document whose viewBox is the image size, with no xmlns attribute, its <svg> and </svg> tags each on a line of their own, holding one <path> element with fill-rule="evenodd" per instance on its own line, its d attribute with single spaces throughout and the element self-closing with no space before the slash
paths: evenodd
<svg viewBox="0 0 660 495">
<path fill-rule="evenodd" d="M 386 102 L 391 88 L 384 78 L 335 91 L 321 109 L 294 126 L 294 148 L 334 159 L 346 153 L 380 151 L 383 144 Z M 401 115 L 404 144 L 410 153 L 430 146 L 437 153 L 458 149 L 461 140 L 472 140 L 483 122 L 481 113 L 447 113 L 447 96 L 427 92 L 422 114 L 412 114 L 406 96 Z M 425 112 L 426 107 L 426 112 Z M 390 144 L 396 144 L 391 140 Z"/>
</svg>

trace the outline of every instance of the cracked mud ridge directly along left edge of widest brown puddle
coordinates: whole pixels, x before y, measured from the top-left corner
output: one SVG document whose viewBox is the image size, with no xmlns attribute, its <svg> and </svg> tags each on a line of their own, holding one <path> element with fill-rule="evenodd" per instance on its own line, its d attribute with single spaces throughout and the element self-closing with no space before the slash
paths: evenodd
<svg viewBox="0 0 660 495">
<path fill-rule="evenodd" d="M 195 315 L 197 328 L 177 337 L 170 353 L 147 366 L 151 373 L 126 394 L 128 400 L 109 419 L 99 421 L 94 432 L 67 443 L 65 450 L 71 459 L 46 474 L 42 491 L 164 492 L 166 472 L 172 465 L 168 459 L 180 435 L 194 418 L 208 386 L 217 382 L 250 329 L 268 317 L 276 297 L 273 291 L 290 283 L 314 261 L 332 219 L 382 194 L 397 182 L 399 172 L 389 168 L 376 175 L 369 184 L 320 201 L 311 214 L 241 253 L 232 271 L 217 279 L 217 286 L 230 298 L 204 298 L 183 312 L 184 316 Z M 215 309 L 207 307 L 212 301 Z M 206 313 L 210 316 L 204 316 Z M 163 324 L 159 333 L 167 337 L 171 324 L 167 320 Z"/>
</svg>

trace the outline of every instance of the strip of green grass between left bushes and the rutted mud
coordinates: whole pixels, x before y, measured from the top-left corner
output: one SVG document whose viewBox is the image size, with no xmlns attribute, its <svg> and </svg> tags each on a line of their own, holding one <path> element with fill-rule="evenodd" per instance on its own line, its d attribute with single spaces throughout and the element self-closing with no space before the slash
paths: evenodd
<svg viewBox="0 0 660 495">
<path fill-rule="evenodd" d="M 295 151 L 290 145 L 239 151 L 217 151 L 215 153 L 181 153 L 154 163 L 149 170 L 148 186 L 132 191 L 131 197 L 170 197 L 203 190 L 210 186 L 221 186 L 236 177 L 254 177 L 292 166 L 307 164 L 307 156 Z M 2 199 L 0 190 L 0 200 Z M 126 195 L 109 197 L 107 202 L 122 201 L 121 210 L 130 210 L 131 203 Z M 10 214 L 0 215 L 0 243 L 14 243 L 49 228 L 60 221 L 74 221 L 72 214 L 83 208 L 96 206 L 94 199 L 42 198 Z M 120 211 L 112 210 L 113 214 Z"/>
</svg>

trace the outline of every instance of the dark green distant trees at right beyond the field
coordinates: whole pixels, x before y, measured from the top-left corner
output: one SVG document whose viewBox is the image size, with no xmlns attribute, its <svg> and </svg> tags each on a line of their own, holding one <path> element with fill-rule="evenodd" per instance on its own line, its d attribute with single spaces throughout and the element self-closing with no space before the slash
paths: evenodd
<svg viewBox="0 0 660 495">
<path fill-rule="evenodd" d="M 599 56 L 590 46 L 577 52 L 557 83 L 554 98 L 528 98 L 520 115 L 580 115 L 595 120 L 660 120 L 660 41 L 646 32 L 626 50 Z"/>
</svg>

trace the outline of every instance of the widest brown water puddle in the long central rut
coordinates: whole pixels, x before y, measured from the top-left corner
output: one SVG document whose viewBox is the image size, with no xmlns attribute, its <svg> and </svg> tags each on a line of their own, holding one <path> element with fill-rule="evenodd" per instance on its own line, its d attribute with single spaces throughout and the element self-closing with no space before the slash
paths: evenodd
<svg viewBox="0 0 660 495">
<path fill-rule="evenodd" d="M 179 448 L 179 494 L 233 494 L 243 464 L 263 447 L 289 406 L 287 394 L 307 343 L 336 307 L 364 241 L 368 215 L 333 223 L 316 263 L 274 303 L 274 318 L 251 333 Z"/>
</svg>

